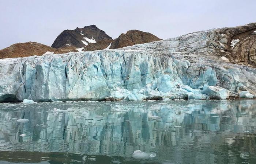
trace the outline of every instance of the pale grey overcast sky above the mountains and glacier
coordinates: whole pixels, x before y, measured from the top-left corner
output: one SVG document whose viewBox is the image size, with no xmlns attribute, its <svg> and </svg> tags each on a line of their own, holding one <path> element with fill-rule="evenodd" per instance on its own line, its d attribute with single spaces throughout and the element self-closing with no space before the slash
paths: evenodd
<svg viewBox="0 0 256 164">
<path fill-rule="evenodd" d="M 113 39 L 128 30 L 161 39 L 256 22 L 256 0 L 0 0 L 0 49 L 51 46 L 63 30 L 95 24 Z"/>
</svg>

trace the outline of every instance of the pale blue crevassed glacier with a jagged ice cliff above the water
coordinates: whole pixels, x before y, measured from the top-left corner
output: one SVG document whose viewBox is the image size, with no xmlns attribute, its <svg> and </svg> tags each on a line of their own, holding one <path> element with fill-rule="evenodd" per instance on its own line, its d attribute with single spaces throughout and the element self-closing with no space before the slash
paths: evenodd
<svg viewBox="0 0 256 164">
<path fill-rule="evenodd" d="M 248 28 L 256 24 L 232 29 Z M 222 58 L 231 42 L 223 30 L 116 50 L 0 59 L 0 102 L 226 99 L 241 91 L 255 97 L 256 69 Z"/>
</svg>

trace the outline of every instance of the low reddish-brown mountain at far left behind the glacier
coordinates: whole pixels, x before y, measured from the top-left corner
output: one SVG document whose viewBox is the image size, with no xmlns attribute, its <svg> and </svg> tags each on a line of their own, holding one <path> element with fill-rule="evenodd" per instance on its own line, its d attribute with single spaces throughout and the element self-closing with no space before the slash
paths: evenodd
<svg viewBox="0 0 256 164">
<path fill-rule="evenodd" d="M 0 50 L 0 58 L 18 58 L 33 55 L 42 55 L 45 52 L 55 52 L 55 48 L 37 42 L 12 44 L 10 47 Z"/>
</svg>

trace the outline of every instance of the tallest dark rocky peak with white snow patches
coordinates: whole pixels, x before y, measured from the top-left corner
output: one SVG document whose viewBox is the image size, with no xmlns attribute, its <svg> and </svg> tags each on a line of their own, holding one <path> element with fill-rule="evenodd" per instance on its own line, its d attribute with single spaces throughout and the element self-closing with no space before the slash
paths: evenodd
<svg viewBox="0 0 256 164">
<path fill-rule="evenodd" d="M 54 40 L 52 47 L 74 46 L 81 48 L 87 46 L 89 43 L 96 43 L 101 40 L 112 40 L 112 38 L 95 25 L 91 25 L 83 28 L 77 27 L 75 30 L 64 30 Z"/>
</svg>

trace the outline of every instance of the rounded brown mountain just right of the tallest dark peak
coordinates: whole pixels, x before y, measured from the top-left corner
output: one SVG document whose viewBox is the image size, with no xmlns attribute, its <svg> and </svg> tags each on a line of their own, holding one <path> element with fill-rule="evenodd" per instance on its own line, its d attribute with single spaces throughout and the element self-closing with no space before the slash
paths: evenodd
<svg viewBox="0 0 256 164">
<path fill-rule="evenodd" d="M 117 39 L 114 39 L 110 46 L 110 49 L 122 48 L 135 44 L 154 42 L 158 40 L 162 39 L 159 39 L 157 36 L 150 34 L 149 32 L 129 30 L 126 33 L 121 34 Z"/>
</svg>

